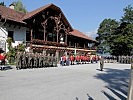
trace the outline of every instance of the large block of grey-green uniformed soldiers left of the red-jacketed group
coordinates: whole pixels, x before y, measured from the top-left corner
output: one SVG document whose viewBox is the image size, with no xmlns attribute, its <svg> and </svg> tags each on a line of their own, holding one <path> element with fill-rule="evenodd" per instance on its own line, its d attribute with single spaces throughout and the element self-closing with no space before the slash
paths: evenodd
<svg viewBox="0 0 133 100">
<path fill-rule="evenodd" d="M 57 58 L 53 54 L 18 52 L 16 55 L 16 68 L 42 68 L 57 67 Z"/>
</svg>

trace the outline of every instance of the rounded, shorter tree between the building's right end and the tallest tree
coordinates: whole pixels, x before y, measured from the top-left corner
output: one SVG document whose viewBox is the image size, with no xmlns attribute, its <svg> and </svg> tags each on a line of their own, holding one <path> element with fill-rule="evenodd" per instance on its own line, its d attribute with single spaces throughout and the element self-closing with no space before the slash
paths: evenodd
<svg viewBox="0 0 133 100">
<path fill-rule="evenodd" d="M 112 43 L 111 37 L 118 25 L 118 22 L 114 19 L 104 19 L 101 22 L 96 40 L 99 42 L 98 49 L 102 51 L 102 53 L 110 52 L 109 48 Z"/>
</svg>

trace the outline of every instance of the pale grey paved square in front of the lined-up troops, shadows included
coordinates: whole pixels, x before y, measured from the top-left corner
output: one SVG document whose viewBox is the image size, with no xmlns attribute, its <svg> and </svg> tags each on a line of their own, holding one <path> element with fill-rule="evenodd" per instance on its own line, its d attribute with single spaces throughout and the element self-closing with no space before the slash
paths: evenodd
<svg viewBox="0 0 133 100">
<path fill-rule="evenodd" d="M 129 64 L 0 71 L 0 100 L 126 100 Z"/>
</svg>

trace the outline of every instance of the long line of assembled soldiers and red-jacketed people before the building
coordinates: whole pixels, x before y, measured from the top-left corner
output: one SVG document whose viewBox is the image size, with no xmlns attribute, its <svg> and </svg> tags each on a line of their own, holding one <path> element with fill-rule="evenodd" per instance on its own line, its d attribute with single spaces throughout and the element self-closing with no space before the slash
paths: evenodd
<svg viewBox="0 0 133 100">
<path fill-rule="evenodd" d="M 43 53 L 26 53 L 18 52 L 16 54 L 16 68 L 26 69 L 26 68 L 42 68 L 42 67 L 56 67 L 58 63 L 61 66 L 69 66 L 76 64 L 89 64 L 97 63 L 101 60 L 99 55 L 63 55 L 60 57 L 59 62 L 57 61 L 57 56 L 53 54 L 43 54 Z M 133 56 L 104 56 L 103 63 L 125 63 L 131 64 L 133 61 Z M 6 55 L 0 53 L 0 65 L 5 65 Z M 101 65 L 103 64 L 101 63 Z"/>
</svg>

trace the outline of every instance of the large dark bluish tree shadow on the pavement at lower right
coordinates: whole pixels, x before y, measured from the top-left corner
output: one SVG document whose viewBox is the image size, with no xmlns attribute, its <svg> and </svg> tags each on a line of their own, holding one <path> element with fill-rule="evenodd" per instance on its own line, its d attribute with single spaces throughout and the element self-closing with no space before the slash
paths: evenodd
<svg viewBox="0 0 133 100">
<path fill-rule="evenodd" d="M 120 98 L 121 100 L 126 100 L 128 93 L 130 69 L 119 70 L 104 68 L 104 72 L 106 73 L 98 73 L 94 77 L 106 82 L 108 85 L 105 87 L 109 89 L 114 95 L 116 95 L 116 97 Z M 110 100 L 116 100 L 106 91 L 102 91 L 102 93 Z"/>
</svg>

